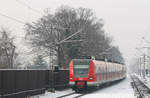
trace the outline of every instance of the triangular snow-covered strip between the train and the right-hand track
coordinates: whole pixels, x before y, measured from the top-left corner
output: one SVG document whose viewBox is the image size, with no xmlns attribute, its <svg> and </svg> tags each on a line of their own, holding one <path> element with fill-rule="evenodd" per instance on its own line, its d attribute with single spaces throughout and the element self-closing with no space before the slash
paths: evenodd
<svg viewBox="0 0 150 98">
<path fill-rule="evenodd" d="M 130 77 L 127 77 L 117 84 L 100 89 L 81 98 L 136 98 L 130 82 Z"/>
</svg>

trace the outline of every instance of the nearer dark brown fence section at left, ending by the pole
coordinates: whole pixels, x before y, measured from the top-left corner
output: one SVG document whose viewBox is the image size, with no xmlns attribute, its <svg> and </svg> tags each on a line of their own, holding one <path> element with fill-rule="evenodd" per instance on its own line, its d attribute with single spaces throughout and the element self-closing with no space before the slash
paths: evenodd
<svg viewBox="0 0 150 98">
<path fill-rule="evenodd" d="M 24 98 L 45 92 L 45 70 L 0 70 L 0 97 Z"/>
</svg>

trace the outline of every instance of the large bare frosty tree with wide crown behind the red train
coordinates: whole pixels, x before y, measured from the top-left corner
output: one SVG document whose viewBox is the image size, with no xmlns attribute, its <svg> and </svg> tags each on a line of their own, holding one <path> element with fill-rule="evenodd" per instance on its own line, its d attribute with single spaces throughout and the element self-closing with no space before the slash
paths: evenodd
<svg viewBox="0 0 150 98">
<path fill-rule="evenodd" d="M 45 51 L 44 55 L 53 51 L 58 64 L 67 67 L 73 58 L 82 55 L 98 57 L 111 47 L 112 40 L 103 31 L 103 25 L 102 19 L 97 18 L 91 9 L 61 6 L 54 14 L 48 13 L 37 22 L 26 24 L 26 39 L 34 50 Z M 57 44 L 81 29 L 81 33 L 69 39 L 72 41 Z"/>
</svg>

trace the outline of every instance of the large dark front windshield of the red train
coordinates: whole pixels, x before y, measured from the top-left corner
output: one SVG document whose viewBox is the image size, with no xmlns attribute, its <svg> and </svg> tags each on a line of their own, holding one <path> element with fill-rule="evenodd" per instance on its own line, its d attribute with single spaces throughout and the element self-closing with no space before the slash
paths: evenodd
<svg viewBox="0 0 150 98">
<path fill-rule="evenodd" d="M 75 77 L 88 77 L 90 60 L 76 59 L 74 60 Z"/>
</svg>

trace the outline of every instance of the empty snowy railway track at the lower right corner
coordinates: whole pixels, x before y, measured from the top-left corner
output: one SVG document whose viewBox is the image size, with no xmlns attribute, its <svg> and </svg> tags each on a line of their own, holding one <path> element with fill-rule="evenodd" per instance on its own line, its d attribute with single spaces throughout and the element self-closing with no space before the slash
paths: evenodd
<svg viewBox="0 0 150 98">
<path fill-rule="evenodd" d="M 137 98 L 150 98 L 150 88 L 135 75 L 131 75 L 131 79 L 131 85 Z"/>
</svg>

